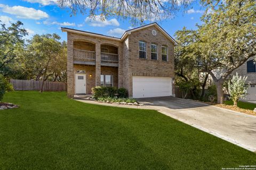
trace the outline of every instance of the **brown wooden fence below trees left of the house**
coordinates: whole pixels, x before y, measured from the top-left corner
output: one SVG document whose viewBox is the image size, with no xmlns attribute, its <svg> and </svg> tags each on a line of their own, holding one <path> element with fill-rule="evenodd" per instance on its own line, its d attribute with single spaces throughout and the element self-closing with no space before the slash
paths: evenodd
<svg viewBox="0 0 256 170">
<path fill-rule="evenodd" d="M 14 90 L 40 90 L 42 81 L 36 80 L 14 80 L 11 79 Z M 44 91 L 67 91 L 67 86 L 63 82 L 44 82 Z"/>
</svg>

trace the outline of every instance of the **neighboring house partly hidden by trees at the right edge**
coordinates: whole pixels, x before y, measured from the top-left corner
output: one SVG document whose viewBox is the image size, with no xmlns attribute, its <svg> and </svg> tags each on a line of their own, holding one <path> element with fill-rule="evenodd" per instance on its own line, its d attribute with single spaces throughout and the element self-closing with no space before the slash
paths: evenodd
<svg viewBox="0 0 256 170">
<path fill-rule="evenodd" d="M 256 65 L 253 58 L 249 58 L 247 62 L 239 66 L 232 74 L 247 76 L 248 90 L 245 100 L 256 101 Z"/>
</svg>

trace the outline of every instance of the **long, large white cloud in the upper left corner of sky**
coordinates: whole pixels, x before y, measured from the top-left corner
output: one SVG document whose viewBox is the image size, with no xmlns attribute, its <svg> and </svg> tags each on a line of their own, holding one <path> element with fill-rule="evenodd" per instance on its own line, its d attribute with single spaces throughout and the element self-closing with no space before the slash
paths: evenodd
<svg viewBox="0 0 256 170">
<path fill-rule="evenodd" d="M 17 18 L 23 19 L 33 19 L 33 20 L 41 20 L 44 18 L 49 18 L 49 15 L 46 12 L 41 10 L 36 10 L 35 8 L 31 7 L 24 7 L 24 6 L 8 6 L 0 4 L 0 7 L 3 8 L 3 12 L 8 14 L 13 14 Z"/>
</svg>

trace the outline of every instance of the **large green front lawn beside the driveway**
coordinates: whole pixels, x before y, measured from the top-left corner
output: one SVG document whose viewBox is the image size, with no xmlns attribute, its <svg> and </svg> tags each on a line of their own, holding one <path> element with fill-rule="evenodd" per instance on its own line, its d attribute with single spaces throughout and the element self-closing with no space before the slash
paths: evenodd
<svg viewBox="0 0 256 170">
<path fill-rule="evenodd" d="M 0 111 L 0 169 L 221 169 L 256 154 L 156 111 L 14 91 Z M 231 127 L 230 127 L 231 128 Z"/>
</svg>

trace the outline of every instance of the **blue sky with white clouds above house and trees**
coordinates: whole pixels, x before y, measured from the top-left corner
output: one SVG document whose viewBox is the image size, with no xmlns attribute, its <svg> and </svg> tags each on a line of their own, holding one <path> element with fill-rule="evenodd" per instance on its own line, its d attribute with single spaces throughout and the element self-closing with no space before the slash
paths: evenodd
<svg viewBox="0 0 256 170">
<path fill-rule="evenodd" d="M 66 40 L 66 32 L 62 32 L 60 27 L 115 37 L 121 37 L 124 30 L 131 29 L 129 20 L 109 18 L 105 21 L 93 21 L 87 18 L 88 15 L 80 13 L 70 16 L 68 8 L 60 8 L 55 2 L 57 0 L 0 0 L 0 20 L 7 25 L 9 21 L 20 20 L 29 32 L 28 38 L 36 33 L 57 33 L 62 40 Z M 195 2 L 186 13 L 177 12 L 173 19 L 163 20 L 158 24 L 173 36 L 175 31 L 183 27 L 195 29 L 203 12 L 204 9 Z"/>
</svg>

